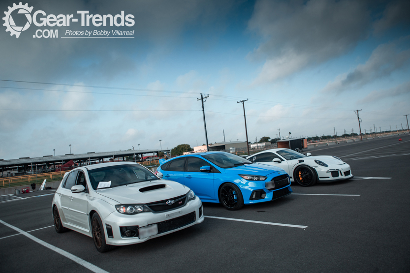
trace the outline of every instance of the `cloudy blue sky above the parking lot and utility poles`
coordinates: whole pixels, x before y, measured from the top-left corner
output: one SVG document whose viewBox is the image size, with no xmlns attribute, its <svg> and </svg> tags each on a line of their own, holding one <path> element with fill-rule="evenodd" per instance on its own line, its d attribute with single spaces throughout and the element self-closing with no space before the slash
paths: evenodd
<svg viewBox="0 0 410 273">
<path fill-rule="evenodd" d="M 7 11 L 14 1 L 3 0 Z M 18 4 L 18 2 L 16 2 Z M 26 2 L 23 2 L 25 4 Z M 132 14 L 132 27 L 0 30 L 0 158 L 401 129 L 410 2 L 30 0 L 31 15 Z M 1 12 L 2 12 L 1 11 Z M 3 13 L 2 13 L 3 14 Z M 41 15 L 41 14 L 40 14 Z M 37 21 L 39 21 L 37 17 Z M 16 26 L 24 14 L 12 13 Z M 2 24 L 5 22 L 1 21 Z M 2 25 L 1 24 L 1 25 Z M 33 38 L 36 30 L 58 38 Z M 62 38 L 66 30 L 133 38 Z"/>
</svg>

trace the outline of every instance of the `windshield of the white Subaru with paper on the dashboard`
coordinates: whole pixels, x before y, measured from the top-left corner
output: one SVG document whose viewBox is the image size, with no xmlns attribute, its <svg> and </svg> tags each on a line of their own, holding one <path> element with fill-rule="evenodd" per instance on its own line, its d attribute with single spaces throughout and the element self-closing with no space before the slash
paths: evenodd
<svg viewBox="0 0 410 273">
<path fill-rule="evenodd" d="M 88 171 L 93 189 L 158 180 L 150 171 L 138 164 L 115 165 Z M 105 182 L 105 183 L 100 183 Z M 110 182 L 110 183 L 108 183 Z M 98 186 L 100 184 L 100 186 Z"/>
</svg>

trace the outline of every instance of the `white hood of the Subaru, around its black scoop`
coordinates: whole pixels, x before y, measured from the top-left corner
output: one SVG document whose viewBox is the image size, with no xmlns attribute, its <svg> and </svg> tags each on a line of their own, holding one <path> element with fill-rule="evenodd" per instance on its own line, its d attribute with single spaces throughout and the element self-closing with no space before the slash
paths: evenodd
<svg viewBox="0 0 410 273">
<path fill-rule="evenodd" d="M 159 184 L 165 184 L 165 187 L 144 192 L 140 191 L 141 188 Z M 147 204 L 166 199 L 173 199 L 177 196 L 187 194 L 188 192 L 189 188 L 187 186 L 164 179 L 96 190 L 96 193 L 113 199 L 117 201 L 118 204 Z"/>
</svg>

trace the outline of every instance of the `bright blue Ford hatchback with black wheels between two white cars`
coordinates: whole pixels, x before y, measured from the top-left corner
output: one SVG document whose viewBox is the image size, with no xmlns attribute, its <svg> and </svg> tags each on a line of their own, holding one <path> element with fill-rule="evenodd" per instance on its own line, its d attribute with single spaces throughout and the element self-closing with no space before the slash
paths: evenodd
<svg viewBox="0 0 410 273">
<path fill-rule="evenodd" d="M 203 202 L 221 203 L 232 211 L 293 192 L 283 169 L 228 152 L 187 154 L 160 163 L 160 178 L 184 184 Z"/>
</svg>

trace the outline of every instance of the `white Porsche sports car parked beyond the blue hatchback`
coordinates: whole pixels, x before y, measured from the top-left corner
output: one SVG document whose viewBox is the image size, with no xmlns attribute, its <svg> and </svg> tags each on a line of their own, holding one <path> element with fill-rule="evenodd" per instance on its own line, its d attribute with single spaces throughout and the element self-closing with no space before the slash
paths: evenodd
<svg viewBox="0 0 410 273">
<path fill-rule="evenodd" d="M 252 162 L 284 169 L 291 182 L 301 186 L 313 186 L 316 182 L 333 182 L 353 177 L 350 166 L 336 156 L 304 155 L 290 149 L 270 149 L 247 157 Z"/>
</svg>

